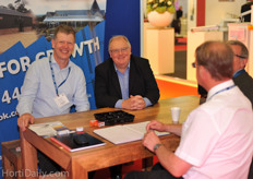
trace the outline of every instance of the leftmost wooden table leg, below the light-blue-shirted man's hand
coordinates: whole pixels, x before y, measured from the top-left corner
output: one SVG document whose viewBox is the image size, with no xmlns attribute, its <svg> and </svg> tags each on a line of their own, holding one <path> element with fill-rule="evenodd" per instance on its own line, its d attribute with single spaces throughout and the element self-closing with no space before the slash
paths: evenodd
<svg viewBox="0 0 253 179">
<path fill-rule="evenodd" d="M 24 178 L 38 178 L 37 168 L 37 151 L 31 145 L 24 136 L 24 132 L 20 132 L 21 136 L 21 152 L 23 163 L 23 177 Z"/>
</svg>

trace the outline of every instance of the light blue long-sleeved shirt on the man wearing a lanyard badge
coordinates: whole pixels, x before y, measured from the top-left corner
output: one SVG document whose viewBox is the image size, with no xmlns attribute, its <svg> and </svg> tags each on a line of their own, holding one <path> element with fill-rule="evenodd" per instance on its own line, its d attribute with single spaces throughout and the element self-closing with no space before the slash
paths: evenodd
<svg viewBox="0 0 253 179">
<path fill-rule="evenodd" d="M 28 112 L 35 118 L 40 118 L 69 114 L 72 105 L 75 105 L 76 111 L 89 110 L 83 71 L 72 61 L 69 61 L 67 68 L 60 69 L 53 56 L 51 64 L 57 85 L 67 79 L 69 69 L 71 69 L 67 81 L 58 88 L 59 94 L 64 94 L 70 103 L 60 108 L 57 106 L 55 102 L 57 94 L 49 59 L 45 58 L 33 62 L 26 72 L 16 106 L 20 116 Z"/>
</svg>

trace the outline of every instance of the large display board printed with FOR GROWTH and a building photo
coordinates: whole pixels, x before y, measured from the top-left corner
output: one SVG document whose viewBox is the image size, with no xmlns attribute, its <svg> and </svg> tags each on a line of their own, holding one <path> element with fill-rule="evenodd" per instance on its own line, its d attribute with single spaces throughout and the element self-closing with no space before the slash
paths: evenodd
<svg viewBox="0 0 253 179">
<path fill-rule="evenodd" d="M 104 61 L 105 15 L 106 0 L 0 2 L 0 142 L 20 138 L 15 108 L 25 73 L 35 60 L 52 55 L 51 38 L 59 24 L 76 31 L 71 61 L 83 70 L 91 109 L 96 108 L 94 69 Z"/>
</svg>

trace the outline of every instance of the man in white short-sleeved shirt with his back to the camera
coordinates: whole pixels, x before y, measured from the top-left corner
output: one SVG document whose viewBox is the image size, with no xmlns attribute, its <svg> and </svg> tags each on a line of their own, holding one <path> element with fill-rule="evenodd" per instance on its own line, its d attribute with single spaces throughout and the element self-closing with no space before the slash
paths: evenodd
<svg viewBox="0 0 253 179">
<path fill-rule="evenodd" d="M 231 80 L 233 52 L 229 45 L 206 41 L 195 51 L 196 79 L 207 92 L 183 126 L 152 121 L 143 145 L 159 164 L 152 171 L 132 171 L 125 179 L 246 179 L 253 155 L 253 111 L 250 100 Z M 174 153 L 153 130 L 181 136 Z"/>
</svg>

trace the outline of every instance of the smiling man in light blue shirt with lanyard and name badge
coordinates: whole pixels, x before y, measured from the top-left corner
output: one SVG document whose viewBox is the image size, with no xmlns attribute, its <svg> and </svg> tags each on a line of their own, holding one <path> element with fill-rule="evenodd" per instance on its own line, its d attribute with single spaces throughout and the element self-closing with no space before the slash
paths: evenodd
<svg viewBox="0 0 253 179">
<path fill-rule="evenodd" d="M 69 114 L 73 105 L 76 111 L 89 110 L 84 73 L 70 61 L 75 45 L 74 29 L 59 25 L 51 44 L 53 55 L 34 61 L 26 72 L 16 106 L 22 131 L 34 123 L 35 118 Z M 59 166 L 43 153 L 38 153 L 38 158 L 44 163 L 48 160 L 47 165 L 39 164 L 44 172 L 59 170 Z"/>
</svg>

